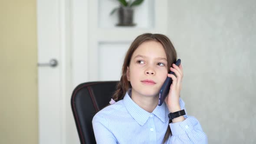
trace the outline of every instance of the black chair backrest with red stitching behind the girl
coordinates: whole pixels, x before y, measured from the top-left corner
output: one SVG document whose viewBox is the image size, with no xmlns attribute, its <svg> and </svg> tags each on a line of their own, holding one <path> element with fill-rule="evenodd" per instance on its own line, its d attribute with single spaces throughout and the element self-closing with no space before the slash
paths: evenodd
<svg viewBox="0 0 256 144">
<path fill-rule="evenodd" d="M 74 89 L 71 107 L 81 144 L 96 144 L 92 118 L 109 104 L 117 83 L 118 81 L 85 82 Z"/>
</svg>

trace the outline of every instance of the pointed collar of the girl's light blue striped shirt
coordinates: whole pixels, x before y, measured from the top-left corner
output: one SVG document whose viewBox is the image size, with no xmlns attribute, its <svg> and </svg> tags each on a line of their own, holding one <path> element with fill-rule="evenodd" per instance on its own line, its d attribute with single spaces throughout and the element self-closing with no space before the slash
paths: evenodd
<svg viewBox="0 0 256 144">
<path fill-rule="evenodd" d="M 138 106 L 130 97 L 131 88 L 126 92 L 124 97 L 124 105 L 128 113 L 138 122 L 140 125 L 144 125 L 151 113 L 145 111 L 143 108 Z M 161 106 L 157 106 L 152 114 L 156 115 L 162 122 L 166 122 L 166 105 L 163 103 Z"/>
</svg>

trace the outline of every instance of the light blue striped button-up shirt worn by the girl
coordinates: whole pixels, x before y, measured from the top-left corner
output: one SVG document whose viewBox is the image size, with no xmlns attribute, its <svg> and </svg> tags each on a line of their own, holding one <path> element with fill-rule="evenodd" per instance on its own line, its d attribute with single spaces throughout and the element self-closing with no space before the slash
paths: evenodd
<svg viewBox="0 0 256 144">
<path fill-rule="evenodd" d="M 181 109 L 185 109 L 181 98 L 180 105 Z M 168 114 L 165 102 L 150 113 L 139 107 L 126 92 L 123 100 L 103 108 L 93 117 L 96 142 L 162 144 L 169 125 L 172 136 L 170 135 L 165 144 L 207 144 L 207 136 L 196 118 L 184 115 L 184 121 L 169 124 Z"/>
</svg>

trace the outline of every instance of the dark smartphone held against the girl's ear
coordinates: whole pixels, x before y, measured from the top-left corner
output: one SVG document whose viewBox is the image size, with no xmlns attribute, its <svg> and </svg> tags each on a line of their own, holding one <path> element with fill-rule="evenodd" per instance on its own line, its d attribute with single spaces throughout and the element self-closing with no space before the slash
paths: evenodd
<svg viewBox="0 0 256 144">
<path fill-rule="evenodd" d="M 175 62 L 175 65 L 180 66 L 181 65 L 181 59 L 178 59 Z M 175 75 L 175 73 L 172 72 L 172 71 L 170 71 L 169 74 L 174 74 Z M 163 104 L 164 99 L 167 97 L 167 95 L 170 91 L 171 83 L 172 83 L 172 79 L 167 76 L 167 78 L 165 79 L 164 84 L 162 85 L 162 87 L 160 89 L 160 92 L 159 92 L 159 100 L 158 100 L 158 105 L 159 106 L 161 106 Z"/>
</svg>

